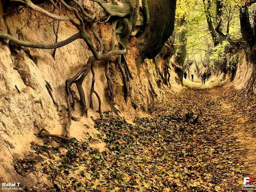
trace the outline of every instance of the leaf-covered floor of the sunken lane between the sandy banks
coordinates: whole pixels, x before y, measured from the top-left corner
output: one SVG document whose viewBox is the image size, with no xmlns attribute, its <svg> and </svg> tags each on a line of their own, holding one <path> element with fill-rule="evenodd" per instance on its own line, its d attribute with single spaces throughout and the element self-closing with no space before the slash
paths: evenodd
<svg viewBox="0 0 256 192">
<path fill-rule="evenodd" d="M 83 142 L 32 143 L 16 171 L 43 172 L 49 182 L 32 191 L 244 191 L 256 177 L 256 97 L 217 81 L 184 85 L 133 124 L 104 113 L 94 120 L 102 134 Z M 99 142 L 105 151 L 90 147 Z"/>
</svg>

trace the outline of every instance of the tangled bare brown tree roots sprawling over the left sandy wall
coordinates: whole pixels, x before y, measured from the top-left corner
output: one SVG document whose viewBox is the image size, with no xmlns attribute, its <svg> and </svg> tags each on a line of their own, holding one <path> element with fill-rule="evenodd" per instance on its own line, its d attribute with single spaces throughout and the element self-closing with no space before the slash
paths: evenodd
<svg viewBox="0 0 256 192">
<path fill-rule="evenodd" d="M 84 114 L 86 114 L 86 116 L 88 116 L 88 109 L 86 106 L 86 100 L 85 100 L 85 95 L 84 95 L 84 89 L 82 88 L 82 83 L 84 81 L 84 79 L 86 78 L 87 74 L 90 72 L 92 72 L 92 87 L 91 87 L 91 92 L 90 92 L 90 106 L 93 108 L 92 105 L 92 94 L 94 93 L 97 98 L 98 98 L 98 102 L 99 102 L 99 112 L 101 112 L 101 100 L 100 100 L 100 96 L 99 94 L 94 90 L 94 84 L 95 84 L 95 72 L 94 72 L 94 66 L 93 63 L 98 61 L 98 60 L 103 60 L 105 62 L 105 72 L 106 72 L 106 78 L 108 81 L 108 93 L 107 93 L 107 98 L 109 99 L 110 102 L 110 106 L 112 111 L 118 116 L 118 110 L 114 107 L 114 88 L 113 88 L 113 83 L 112 80 L 110 78 L 109 75 L 109 59 L 110 57 L 114 56 L 114 55 L 119 55 L 118 56 L 118 67 L 121 71 L 122 74 L 122 78 L 124 81 L 124 92 L 125 92 L 125 100 L 128 97 L 128 89 L 127 89 L 127 80 L 126 80 L 126 75 L 124 73 L 124 70 L 122 69 L 122 62 L 121 62 L 121 56 L 123 56 L 124 58 L 124 62 L 125 62 L 125 69 L 126 69 L 126 73 L 128 74 L 128 78 L 132 78 L 132 74 L 128 68 L 128 63 L 126 60 L 126 47 L 120 42 L 120 46 L 122 46 L 123 50 L 115 50 L 115 40 L 116 40 L 116 25 L 118 23 L 119 20 L 114 21 L 113 24 L 113 32 L 112 32 L 112 40 L 111 40 L 111 49 L 109 52 L 106 52 L 103 54 L 104 52 L 104 46 L 102 43 L 102 40 L 100 39 L 98 32 L 96 30 L 96 22 L 95 24 L 92 25 L 92 30 L 94 32 L 95 38 L 98 40 L 99 44 L 100 44 L 100 51 L 97 52 L 96 48 L 94 47 L 94 44 L 92 43 L 92 39 L 90 38 L 90 35 L 86 32 L 86 28 L 85 28 L 85 24 L 84 24 L 84 17 L 89 18 L 90 20 L 94 20 L 95 18 L 95 14 L 94 16 L 90 16 L 88 15 L 85 11 L 84 8 L 82 7 L 82 5 L 80 4 L 80 2 L 78 2 L 77 0 L 73 0 L 74 4 L 76 4 L 76 6 L 72 7 L 69 6 L 66 1 L 64 0 L 59 0 L 59 3 L 62 4 L 62 6 L 64 6 L 64 8 L 66 8 L 67 10 L 70 10 L 74 16 L 76 18 L 72 18 L 71 16 L 62 16 L 61 15 L 61 6 L 60 8 L 58 8 L 56 6 L 56 4 L 50 0 L 50 2 L 53 4 L 53 6 L 59 10 L 59 14 L 56 15 L 53 12 L 48 12 L 47 10 L 44 10 L 43 8 L 41 8 L 40 6 L 37 6 L 36 4 L 34 4 L 33 2 L 31 2 L 30 0 L 13 0 L 15 2 L 20 2 L 25 4 L 26 6 L 30 7 L 32 10 L 39 12 L 49 18 L 51 18 L 54 22 L 54 20 L 58 21 L 58 26 L 57 26 L 57 30 L 55 30 L 55 25 L 54 25 L 54 34 L 56 36 L 55 38 L 55 42 L 54 43 L 37 43 L 37 42 L 25 42 L 25 41 L 20 41 L 17 40 L 15 38 L 13 38 L 10 34 L 6 34 L 4 32 L 0 32 L 0 39 L 4 39 L 6 42 L 11 42 L 14 44 L 17 44 L 19 46 L 24 46 L 24 47 L 28 47 L 28 48 L 41 48 L 41 49 L 54 49 L 54 53 L 53 53 L 53 57 L 55 56 L 56 53 L 56 48 L 60 48 L 62 46 L 65 46 L 77 39 L 83 39 L 89 50 L 92 52 L 92 56 L 90 56 L 88 58 L 88 62 L 87 64 L 84 66 L 84 68 L 82 68 L 73 78 L 70 78 L 68 80 L 66 80 L 66 84 L 65 84 L 65 89 L 66 89 L 66 103 L 67 103 L 67 108 L 68 108 L 68 123 L 66 124 L 66 136 L 62 137 L 62 136 L 58 136 L 58 135 L 53 135 L 53 134 L 49 134 L 46 130 L 41 130 L 40 133 L 38 134 L 38 136 L 49 136 L 49 137 L 56 137 L 56 138 L 60 138 L 66 141 L 70 140 L 70 125 L 71 125 L 71 121 L 72 120 L 77 120 L 76 118 L 74 118 L 72 116 L 72 108 L 74 109 L 75 106 L 75 100 L 77 100 L 78 102 L 80 102 L 81 105 L 81 116 L 84 116 Z M 130 14 L 131 12 L 131 7 L 128 4 L 122 4 L 122 3 L 118 3 L 118 5 L 112 4 L 112 3 L 104 3 L 101 0 L 92 0 L 94 2 L 97 2 L 110 16 L 117 16 L 117 17 L 124 17 Z M 108 19 L 110 18 L 110 16 L 108 17 Z M 108 20 L 107 19 L 107 20 Z M 66 40 L 63 40 L 61 42 L 58 42 L 58 29 L 59 29 L 59 22 L 60 21 L 69 21 L 72 25 L 74 25 L 77 30 L 79 31 L 78 33 L 74 34 L 73 36 L 71 36 L 70 38 L 67 38 Z M 106 22 L 106 21 L 105 21 Z M 120 26 L 120 28 L 118 28 L 118 34 L 122 33 L 123 30 L 123 26 Z M 129 30 L 129 35 L 130 36 L 130 31 L 132 29 Z M 119 37 L 118 37 L 119 38 Z M 76 93 L 71 89 L 72 84 L 76 84 L 76 87 L 78 89 L 79 92 L 79 99 L 78 96 L 76 96 Z M 48 82 L 46 82 L 46 88 L 54 102 L 54 104 L 56 105 L 56 107 L 58 108 L 58 104 L 55 102 L 53 96 L 52 96 L 52 88 L 50 86 L 50 84 Z M 17 86 L 16 89 L 18 90 Z M 19 92 L 19 90 L 18 90 Z M 72 104 L 71 104 L 71 99 L 72 99 Z M 42 131 L 45 131 L 44 133 L 42 133 Z"/>
</svg>

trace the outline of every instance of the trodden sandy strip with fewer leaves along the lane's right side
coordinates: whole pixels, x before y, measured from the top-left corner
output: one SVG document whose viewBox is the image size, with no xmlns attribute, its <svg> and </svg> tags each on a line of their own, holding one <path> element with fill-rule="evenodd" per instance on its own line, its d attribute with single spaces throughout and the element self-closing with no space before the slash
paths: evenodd
<svg viewBox="0 0 256 192">
<path fill-rule="evenodd" d="M 245 173 L 248 176 L 256 177 L 256 119 L 248 115 L 250 114 L 249 108 L 253 104 L 248 107 L 248 110 L 241 113 L 239 109 L 234 107 L 236 102 L 230 102 L 223 98 L 223 91 L 224 88 L 212 88 L 210 94 L 212 98 L 220 101 L 224 115 L 230 118 L 228 123 L 234 130 L 232 136 L 236 137 L 235 148 L 239 151 L 237 156 L 243 161 Z M 242 99 L 241 97 L 242 95 L 240 95 L 238 101 Z"/>
</svg>

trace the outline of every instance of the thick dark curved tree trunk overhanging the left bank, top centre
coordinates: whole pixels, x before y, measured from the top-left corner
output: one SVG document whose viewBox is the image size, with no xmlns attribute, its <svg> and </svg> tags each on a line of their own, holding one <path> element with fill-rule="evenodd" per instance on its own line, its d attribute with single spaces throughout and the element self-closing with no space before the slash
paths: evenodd
<svg viewBox="0 0 256 192">
<path fill-rule="evenodd" d="M 153 59 L 174 30 L 176 0 L 147 0 L 149 20 L 139 37 L 142 58 Z"/>
</svg>

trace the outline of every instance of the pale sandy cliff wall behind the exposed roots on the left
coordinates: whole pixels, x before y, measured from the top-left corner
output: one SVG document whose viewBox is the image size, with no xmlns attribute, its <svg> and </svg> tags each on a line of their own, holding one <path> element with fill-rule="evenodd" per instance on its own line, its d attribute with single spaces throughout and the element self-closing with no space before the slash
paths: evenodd
<svg viewBox="0 0 256 192">
<path fill-rule="evenodd" d="M 89 1 L 85 0 L 84 3 L 88 4 Z M 90 6 L 88 5 L 88 7 Z M 2 4 L 0 4 L 0 18 L 3 14 L 2 8 Z M 97 9 L 100 10 L 96 7 Z M 68 14 L 66 10 L 63 10 L 63 12 Z M 52 20 L 29 9 L 20 14 L 8 16 L 5 23 L 1 19 L 0 30 L 8 31 L 9 34 L 20 38 L 20 40 L 50 43 L 55 40 Z M 98 31 L 104 43 L 110 44 L 110 24 L 98 25 Z M 17 34 L 16 32 L 20 33 Z M 76 29 L 68 22 L 61 22 L 59 40 L 64 40 L 75 32 Z M 90 26 L 88 26 L 88 33 L 93 36 Z M 112 59 L 110 66 L 111 77 L 114 82 L 116 107 L 120 110 L 121 115 L 130 120 L 155 108 L 164 95 L 164 88 L 159 89 L 156 84 L 159 77 L 156 75 L 152 60 L 146 60 L 142 65 L 140 76 L 138 76 L 135 64 L 138 51 L 134 43 L 135 40 L 131 40 L 128 46 L 127 58 L 134 79 L 129 84 L 131 97 L 127 104 L 124 101 L 121 74 L 114 63 L 114 59 Z M 98 46 L 96 40 L 94 40 L 94 44 Z M 76 40 L 67 46 L 58 48 L 55 60 L 52 58 L 52 51 L 21 48 L 11 46 L 8 42 L 0 42 L 0 182 L 23 182 L 26 185 L 33 183 L 38 176 L 27 176 L 25 178 L 16 174 L 11 165 L 13 157 L 9 150 L 14 158 L 27 154 L 30 150 L 29 143 L 31 141 L 40 142 L 40 138 L 34 136 L 34 133 L 42 128 L 53 134 L 64 134 L 63 126 L 67 123 L 67 118 L 63 119 L 66 114 L 65 81 L 72 78 L 82 68 L 91 53 L 82 40 Z M 102 110 L 110 110 L 105 97 L 107 82 L 102 62 L 95 64 L 95 72 L 95 89 L 101 97 Z M 170 70 L 170 73 L 170 82 L 174 87 L 173 89 L 178 89 L 174 70 Z M 59 111 L 48 94 L 45 80 L 50 82 L 52 86 L 53 96 L 59 105 Z M 152 82 L 157 96 L 152 96 L 148 80 Z M 92 74 L 89 74 L 83 84 L 87 104 L 91 81 Z M 134 104 L 136 107 L 134 107 Z M 98 107 L 96 97 L 94 97 L 94 106 L 95 109 Z M 91 130 L 88 129 L 93 125 L 90 117 L 97 115 L 96 110 L 89 108 L 88 118 L 84 117 L 78 122 L 72 122 L 71 136 L 80 139 L 84 136 L 83 132 L 93 132 L 94 130 L 91 128 Z M 79 104 L 76 104 L 74 116 L 78 118 L 80 116 Z"/>
</svg>

